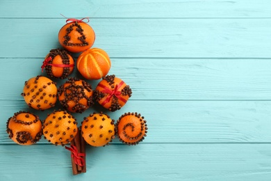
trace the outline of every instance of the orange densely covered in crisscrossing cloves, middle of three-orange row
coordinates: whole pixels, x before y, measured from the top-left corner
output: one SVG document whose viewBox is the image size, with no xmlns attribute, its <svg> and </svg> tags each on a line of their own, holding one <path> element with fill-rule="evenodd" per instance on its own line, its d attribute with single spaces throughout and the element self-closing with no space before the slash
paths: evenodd
<svg viewBox="0 0 271 181">
<path fill-rule="evenodd" d="M 86 81 L 70 77 L 58 88 L 60 104 L 72 113 L 83 113 L 94 104 L 93 91 Z"/>
</svg>

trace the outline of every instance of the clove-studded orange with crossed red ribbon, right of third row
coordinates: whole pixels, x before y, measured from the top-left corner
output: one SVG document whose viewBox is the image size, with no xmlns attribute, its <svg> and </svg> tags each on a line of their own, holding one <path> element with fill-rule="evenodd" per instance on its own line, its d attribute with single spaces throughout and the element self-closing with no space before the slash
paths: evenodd
<svg viewBox="0 0 271 181">
<path fill-rule="evenodd" d="M 97 85 L 95 100 L 109 111 L 121 109 L 132 95 L 130 86 L 122 79 L 113 75 L 107 75 Z"/>
</svg>

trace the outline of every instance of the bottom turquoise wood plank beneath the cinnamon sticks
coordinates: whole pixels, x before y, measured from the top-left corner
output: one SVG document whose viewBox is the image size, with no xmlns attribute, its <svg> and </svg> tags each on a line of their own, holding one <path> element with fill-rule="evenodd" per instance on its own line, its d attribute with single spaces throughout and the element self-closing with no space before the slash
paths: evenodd
<svg viewBox="0 0 271 181">
<path fill-rule="evenodd" d="M 109 145 L 87 150 L 87 172 L 54 145 L 0 147 L 3 180 L 270 180 L 266 144 Z M 42 155 L 42 156 L 41 156 Z"/>
</svg>

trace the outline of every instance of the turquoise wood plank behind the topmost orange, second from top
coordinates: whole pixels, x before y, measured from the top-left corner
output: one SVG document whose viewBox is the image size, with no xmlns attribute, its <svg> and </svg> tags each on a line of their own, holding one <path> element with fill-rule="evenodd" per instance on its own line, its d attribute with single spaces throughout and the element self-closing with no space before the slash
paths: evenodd
<svg viewBox="0 0 271 181">
<path fill-rule="evenodd" d="M 112 58 L 270 58 L 271 19 L 92 19 Z M 26 26 L 27 23 L 27 26 Z M 65 19 L 2 19 L 1 58 L 43 58 Z M 23 27 L 23 28 L 22 28 Z"/>
</svg>

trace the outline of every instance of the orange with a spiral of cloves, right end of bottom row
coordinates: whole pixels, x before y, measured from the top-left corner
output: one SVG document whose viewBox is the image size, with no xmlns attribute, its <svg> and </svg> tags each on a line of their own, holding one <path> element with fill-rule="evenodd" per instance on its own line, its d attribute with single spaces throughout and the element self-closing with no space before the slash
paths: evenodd
<svg viewBox="0 0 271 181">
<path fill-rule="evenodd" d="M 117 120 L 117 135 L 122 143 L 136 145 L 147 136 L 147 124 L 138 113 L 125 113 Z"/>
</svg>

